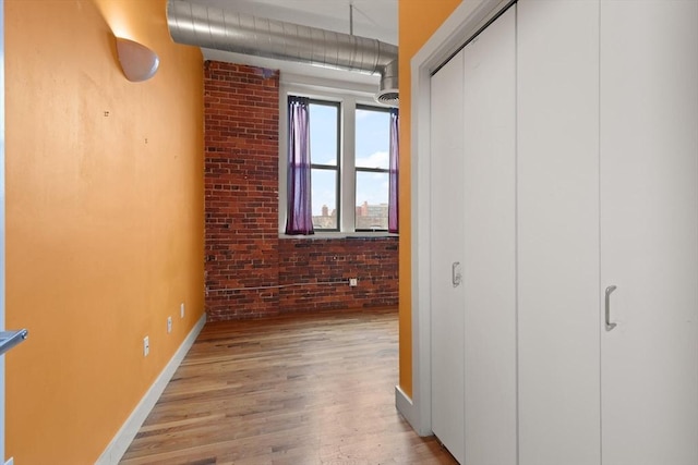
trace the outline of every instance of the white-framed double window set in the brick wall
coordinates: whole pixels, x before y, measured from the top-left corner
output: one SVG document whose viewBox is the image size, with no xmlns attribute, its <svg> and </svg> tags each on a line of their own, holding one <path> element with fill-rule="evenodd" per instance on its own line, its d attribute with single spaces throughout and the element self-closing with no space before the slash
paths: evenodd
<svg viewBox="0 0 698 465">
<path fill-rule="evenodd" d="M 390 109 L 373 95 L 310 91 L 293 85 L 282 95 L 309 97 L 311 204 L 315 234 L 388 231 Z M 282 99 L 286 100 L 286 99 Z M 279 133 L 279 231 L 286 224 L 288 134 Z"/>
</svg>

